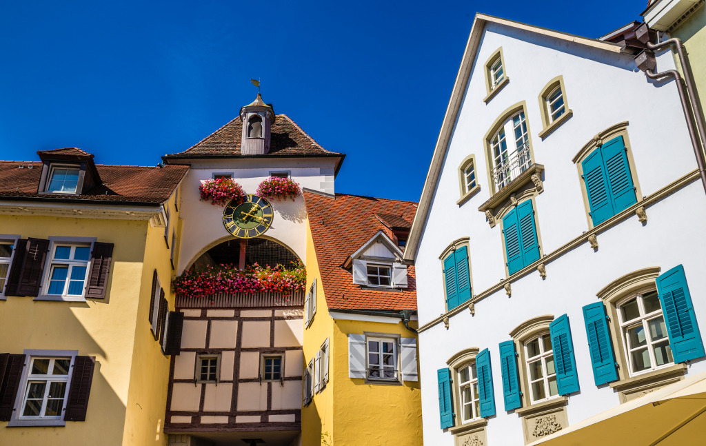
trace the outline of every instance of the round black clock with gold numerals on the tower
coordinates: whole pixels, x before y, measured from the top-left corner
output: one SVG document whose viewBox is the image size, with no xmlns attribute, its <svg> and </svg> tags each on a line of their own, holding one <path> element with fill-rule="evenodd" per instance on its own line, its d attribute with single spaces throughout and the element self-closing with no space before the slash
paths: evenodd
<svg viewBox="0 0 706 446">
<path fill-rule="evenodd" d="M 265 198 L 248 194 L 244 203 L 232 201 L 223 210 L 225 229 L 239 239 L 252 239 L 270 228 L 274 213 L 272 205 Z"/>
</svg>

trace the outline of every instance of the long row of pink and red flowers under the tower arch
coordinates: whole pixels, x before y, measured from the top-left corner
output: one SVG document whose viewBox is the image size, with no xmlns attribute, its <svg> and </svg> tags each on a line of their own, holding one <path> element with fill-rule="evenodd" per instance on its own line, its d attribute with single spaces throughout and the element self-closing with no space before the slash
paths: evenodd
<svg viewBox="0 0 706 446">
<path fill-rule="evenodd" d="M 306 286 L 306 269 L 297 260 L 293 269 L 285 270 L 283 265 L 261 267 L 257 263 L 244 271 L 236 265 L 208 265 L 205 270 L 184 271 L 172 279 L 172 292 L 177 296 L 204 297 L 213 294 L 261 292 L 282 293 L 285 296 Z"/>
</svg>

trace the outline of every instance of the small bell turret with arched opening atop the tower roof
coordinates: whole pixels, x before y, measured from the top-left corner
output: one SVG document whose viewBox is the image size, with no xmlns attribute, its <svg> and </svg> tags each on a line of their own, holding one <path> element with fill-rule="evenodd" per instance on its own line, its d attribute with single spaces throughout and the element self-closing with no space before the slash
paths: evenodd
<svg viewBox="0 0 706 446">
<path fill-rule="evenodd" d="M 258 93 L 251 104 L 240 109 L 243 120 L 241 155 L 265 155 L 270 152 L 270 135 L 275 123 L 275 110 L 272 104 L 265 104 Z"/>
</svg>

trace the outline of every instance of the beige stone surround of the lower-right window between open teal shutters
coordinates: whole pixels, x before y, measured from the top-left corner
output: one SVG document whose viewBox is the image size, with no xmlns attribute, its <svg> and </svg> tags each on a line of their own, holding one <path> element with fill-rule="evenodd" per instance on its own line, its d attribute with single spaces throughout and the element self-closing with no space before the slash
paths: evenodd
<svg viewBox="0 0 706 446">
<path fill-rule="evenodd" d="M 618 363 L 618 380 L 610 382 L 608 386 L 618 391 L 621 404 L 659 387 L 681 380 L 686 373 L 686 365 L 681 363 L 674 363 L 669 367 L 640 373 L 632 377 L 628 371 L 628 356 L 626 355 L 621 328 L 618 324 L 616 304 L 639 291 L 656 290 L 655 279 L 659 276 L 661 269 L 659 266 L 653 266 L 628 272 L 628 274 L 618 277 L 618 279 L 607 284 L 596 294 L 606 307 L 606 314 L 609 317 L 608 326 L 611 342 L 613 343 L 614 354 Z"/>
</svg>

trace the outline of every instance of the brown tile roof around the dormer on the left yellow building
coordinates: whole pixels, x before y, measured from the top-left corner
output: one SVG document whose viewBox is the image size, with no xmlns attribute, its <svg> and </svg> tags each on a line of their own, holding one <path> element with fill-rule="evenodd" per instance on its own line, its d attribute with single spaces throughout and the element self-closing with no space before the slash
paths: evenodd
<svg viewBox="0 0 706 446">
<path fill-rule="evenodd" d="M 23 169 L 19 168 L 20 164 Z M 29 169 L 30 166 L 32 169 Z M 41 162 L 0 161 L 0 199 L 41 197 L 56 200 L 163 203 L 189 170 L 188 166 L 179 165 L 145 167 L 96 164 L 95 167 L 102 179 L 99 186 L 80 195 L 47 195 L 37 193 L 42 174 Z"/>
</svg>

